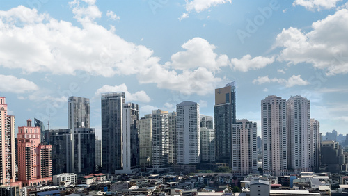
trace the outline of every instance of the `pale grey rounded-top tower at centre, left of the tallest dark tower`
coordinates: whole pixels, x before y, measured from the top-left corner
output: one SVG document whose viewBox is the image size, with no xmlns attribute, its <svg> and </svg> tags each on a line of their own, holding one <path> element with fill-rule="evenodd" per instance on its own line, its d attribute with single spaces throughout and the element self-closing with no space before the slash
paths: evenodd
<svg viewBox="0 0 348 196">
<path fill-rule="evenodd" d="M 199 104 L 184 101 L 176 105 L 177 163 L 200 163 Z"/>
</svg>

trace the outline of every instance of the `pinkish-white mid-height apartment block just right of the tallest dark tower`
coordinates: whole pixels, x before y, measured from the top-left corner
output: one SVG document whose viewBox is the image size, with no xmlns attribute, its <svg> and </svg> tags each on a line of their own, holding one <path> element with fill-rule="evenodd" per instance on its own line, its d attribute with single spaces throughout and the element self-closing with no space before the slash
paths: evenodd
<svg viewBox="0 0 348 196">
<path fill-rule="evenodd" d="M 232 124 L 232 172 L 246 176 L 258 170 L 256 122 L 246 119 Z"/>
</svg>

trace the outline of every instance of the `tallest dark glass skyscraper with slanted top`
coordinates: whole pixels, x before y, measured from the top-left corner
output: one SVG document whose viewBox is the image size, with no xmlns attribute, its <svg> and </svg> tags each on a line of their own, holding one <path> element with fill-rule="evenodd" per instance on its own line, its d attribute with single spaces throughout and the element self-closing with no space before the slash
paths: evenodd
<svg viewBox="0 0 348 196">
<path fill-rule="evenodd" d="M 215 89 L 216 162 L 232 165 L 232 124 L 236 122 L 235 82 Z"/>
</svg>

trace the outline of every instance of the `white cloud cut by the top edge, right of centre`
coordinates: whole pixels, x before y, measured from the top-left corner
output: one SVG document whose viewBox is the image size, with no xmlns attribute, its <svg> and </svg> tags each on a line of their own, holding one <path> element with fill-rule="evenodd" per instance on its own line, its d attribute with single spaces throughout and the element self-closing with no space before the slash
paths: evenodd
<svg viewBox="0 0 348 196">
<path fill-rule="evenodd" d="M 196 13 L 200 13 L 203 10 L 207 10 L 210 7 L 217 6 L 224 3 L 232 3 L 232 0 L 185 0 L 186 1 L 186 10 L 190 12 L 195 10 Z"/>
</svg>

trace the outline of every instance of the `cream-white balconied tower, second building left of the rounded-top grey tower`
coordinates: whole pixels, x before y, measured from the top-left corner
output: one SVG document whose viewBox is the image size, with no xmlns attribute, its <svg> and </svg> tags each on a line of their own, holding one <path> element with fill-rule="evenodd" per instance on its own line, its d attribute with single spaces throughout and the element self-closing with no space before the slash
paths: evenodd
<svg viewBox="0 0 348 196">
<path fill-rule="evenodd" d="M 161 171 L 169 161 L 168 111 L 152 111 L 152 168 Z"/>
</svg>

